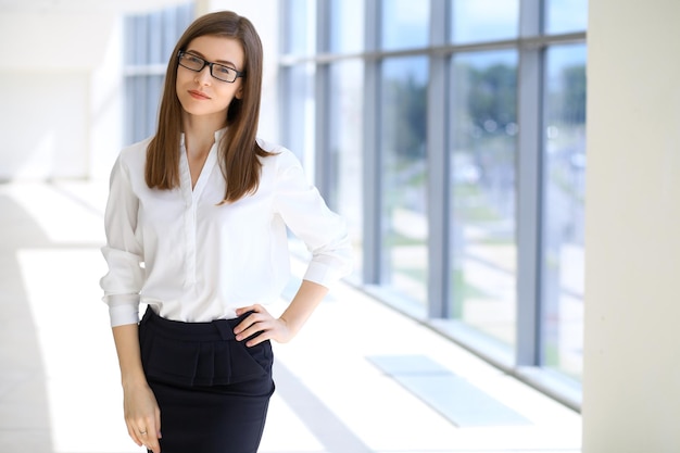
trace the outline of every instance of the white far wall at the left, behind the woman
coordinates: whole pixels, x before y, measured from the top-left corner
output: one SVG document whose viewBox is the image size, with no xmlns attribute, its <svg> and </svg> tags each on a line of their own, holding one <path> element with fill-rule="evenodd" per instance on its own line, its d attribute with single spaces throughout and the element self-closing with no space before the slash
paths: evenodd
<svg viewBox="0 0 680 453">
<path fill-rule="evenodd" d="M 119 146 L 119 71 L 111 61 L 112 14 L 0 15 L 0 180 L 87 177 L 110 146 Z M 12 55 L 11 59 L 7 55 Z M 118 59 L 116 59 L 117 61 Z M 108 92 L 104 105 L 98 93 Z M 118 112 L 119 113 L 119 112 Z M 108 122 L 106 142 L 92 142 Z"/>
</svg>

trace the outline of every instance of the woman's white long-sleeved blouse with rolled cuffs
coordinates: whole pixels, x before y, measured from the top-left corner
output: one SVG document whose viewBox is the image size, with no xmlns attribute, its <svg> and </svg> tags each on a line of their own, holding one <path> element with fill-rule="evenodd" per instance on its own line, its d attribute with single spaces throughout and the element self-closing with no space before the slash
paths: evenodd
<svg viewBox="0 0 680 453">
<path fill-rule="evenodd" d="M 213 144 L 193 190 L 184 144 L 180 184 L 149 189 L 144 162 L 150 139 L 121 152 L 110 181 L 105 213 L 109 265 L 100 285 L 111 325 L 136 324 L 139 304 L 164 318 L 209 322 L 236 317 L 236 309 L 267 304 L 290 277 L 287 226 L 312 259 L 305 280 L 330 286 L 352 268 L 342 217 L 311 186 L 295 155 L 259 140 L 266 151 L 256 192 L 217 205 L 225 180 Z"/>
</svg>

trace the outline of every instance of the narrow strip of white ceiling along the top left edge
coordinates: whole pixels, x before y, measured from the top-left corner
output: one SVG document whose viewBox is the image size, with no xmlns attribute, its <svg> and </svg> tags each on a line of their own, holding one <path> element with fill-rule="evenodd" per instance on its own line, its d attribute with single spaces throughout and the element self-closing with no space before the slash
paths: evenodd
<svg viewBox="0 0 680 453">
<path fill-rule="evenodd" d="M 141 12 L 187 2 L 187 0 L 0 0 L 0 14 Z"/>
</svg>

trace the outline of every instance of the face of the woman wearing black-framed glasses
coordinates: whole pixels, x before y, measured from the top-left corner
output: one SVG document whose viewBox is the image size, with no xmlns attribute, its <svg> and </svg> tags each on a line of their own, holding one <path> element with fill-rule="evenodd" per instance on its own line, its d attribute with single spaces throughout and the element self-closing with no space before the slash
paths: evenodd
<svg viewBox="0 0 680 453">
<path fill-rule="evenodd" d="M 207 62 L 218 63 L 243 71 L 243 49 L 236 39 L 222 36 L 200 36 L 189 42 L 187 53 Z M 193 118 L 213 119 L 222 127 L 227 118 L 227 109 L 234 98 L 241 99 L 242 78 L 234 83 L 222 81 L 211 75 L 210 66 L 201 72 L 177 66 L 177 98 L 185 115 Z"/>
</svg>

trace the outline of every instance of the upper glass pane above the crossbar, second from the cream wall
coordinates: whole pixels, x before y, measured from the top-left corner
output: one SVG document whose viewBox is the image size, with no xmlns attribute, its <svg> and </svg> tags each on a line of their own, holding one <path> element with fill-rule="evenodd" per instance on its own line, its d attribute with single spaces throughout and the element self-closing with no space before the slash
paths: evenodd
<svg viewBox="0 0 680 453">
<path fill-rule="evenodd" d="M 451 1 L 451 40 L 454 43 L 517 37 L 519 0 Z"/>
</svg>

